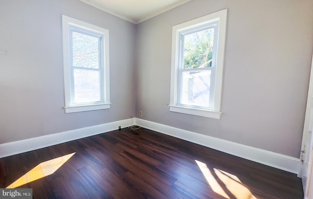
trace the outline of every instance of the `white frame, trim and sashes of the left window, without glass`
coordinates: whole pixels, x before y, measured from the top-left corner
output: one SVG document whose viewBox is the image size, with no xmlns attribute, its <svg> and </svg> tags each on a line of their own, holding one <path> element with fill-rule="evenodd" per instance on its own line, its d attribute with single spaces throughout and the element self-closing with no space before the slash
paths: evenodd
<svg viewBox="0 0 313 199">
<path fill-rule="evenodd" d="M 82 112 L 110 108 L 109 30 L 62 15 L 65 112 Z M 72 32 L 99 38 L 100 101 L 74 102 L 74 69 L 72 63 Z M 76 68 L 77 69 L 77 68 Z M 84 70 L 94 70 L 84 68 Z"/>
</svg>

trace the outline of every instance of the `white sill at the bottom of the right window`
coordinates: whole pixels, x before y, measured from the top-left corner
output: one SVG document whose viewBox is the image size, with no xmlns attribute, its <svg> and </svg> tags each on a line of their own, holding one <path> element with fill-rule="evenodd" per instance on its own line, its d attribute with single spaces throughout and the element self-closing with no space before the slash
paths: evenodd
<svg viewBox="0 0 313 199">
<path fill-rule="evenodd" d="M 201 117 L 206 117 L 206 118 L 221 119 L 222 112 L 220 111 L 195 109 L 195 108 L 173 106 L 173 105 L 169 105 L 169 106 L 170 106 L 170 111 L 172 112 L 201 116 Z"/>
</svg>

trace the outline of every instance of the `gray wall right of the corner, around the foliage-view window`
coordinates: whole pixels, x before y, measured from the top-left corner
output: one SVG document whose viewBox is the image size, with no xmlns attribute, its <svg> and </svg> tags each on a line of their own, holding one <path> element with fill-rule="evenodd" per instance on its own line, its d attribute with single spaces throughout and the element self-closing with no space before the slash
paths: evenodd
<svg viewBox="0 0 313 199">
<path fill-rule="evenodd" d="M 222 118 L 169 112 L 172 27 L 228 8 Z M 299 158 L 313 0 L 192 0 L 136 26 L 136 117 Z"/>
</svg>

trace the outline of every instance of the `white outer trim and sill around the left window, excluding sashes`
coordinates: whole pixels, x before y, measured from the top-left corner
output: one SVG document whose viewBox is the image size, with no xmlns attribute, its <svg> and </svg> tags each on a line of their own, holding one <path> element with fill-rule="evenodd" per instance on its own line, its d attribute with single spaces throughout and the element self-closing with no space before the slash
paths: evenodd
<svg viewBox="0 0 313 199">
<path fill-rule="evenodd" d="M 103 101 L 101 103 L 90 103 L 84 105 L 71 104 L 71 66 L 69 61 L 69 25 L 96 32 L 102 35 L 102 56 L 103 56 Z M 109 30 L 90 23 L 77 20 L 62 15 L 62 34 L 63 34 L 63 66 L 64 66 L 64 94 L 65 94 L 65 112 L 74 113 L 81 111 L 92 111 L 110 108 L 110 67 L 109 67 Z"/>
</svg>

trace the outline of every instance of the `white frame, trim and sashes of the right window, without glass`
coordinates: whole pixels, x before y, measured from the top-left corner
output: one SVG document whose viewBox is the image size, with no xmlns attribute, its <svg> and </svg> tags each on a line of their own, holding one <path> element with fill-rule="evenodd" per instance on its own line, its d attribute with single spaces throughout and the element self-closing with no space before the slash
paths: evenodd
<svg viewBox="0 0 313 199">
<path fill-rule="evenodd" d="M 171 94 L 169 109 L 172 112 L 197 115 L 202 117 L 220 119 L 221 118 L 221 100 L 222 100 L 222 84 L 223 84 L 223 69 L 224 69 L 224 46 L 226 35 L 226 18 L 227 9 L 215 12 L 201 18 L 190 20 L 173 26 L 172 32 L 172 62 L 171 62 Z M 180 103 L 180 90 L 182 81 L 180 80 L 182 71 L 182 56 L 183 56 L 183 41 L 182 36 L 192 32 L 199 32 L 211 26 L 215 27 L 214 44 L 216 52 L 213 52 L 215 63 L 210 69 L 195 68 L 190 70 L 211 70 L 213 78 L 211 78 L 210 89 L 210 104 L 211 107 L 202 107 L 195 105 L 186 105 Z M 216 39 L 217 38 L 217 39 Z M 215 55 L 214 55 L 215 54 Z M 215 65 L 215 66 L 214 66 Z M 214 66 L 214 68 L 213 68 Z M 212 86 L 213 85 L 213 86 Z M 213 96 L 211 96 L 213 95 Z M 212 98 L 213 97 L 213 98 Z"/>
</svg>

